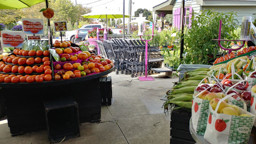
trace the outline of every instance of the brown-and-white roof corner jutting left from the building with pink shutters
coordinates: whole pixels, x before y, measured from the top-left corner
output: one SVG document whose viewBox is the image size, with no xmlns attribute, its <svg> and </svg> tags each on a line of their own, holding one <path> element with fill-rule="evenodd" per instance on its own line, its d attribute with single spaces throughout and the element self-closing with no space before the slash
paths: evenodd
<svg viewBox="0 0 256 144">
<path fill-rule="evenodd" d="M 172 14 L 172 5 L 175 0 L 166 0 L 158 5 L 153 6 L 153 11 L 155 14 L 161 14 L 163 11 L 164 14 Z"/>
</svg>

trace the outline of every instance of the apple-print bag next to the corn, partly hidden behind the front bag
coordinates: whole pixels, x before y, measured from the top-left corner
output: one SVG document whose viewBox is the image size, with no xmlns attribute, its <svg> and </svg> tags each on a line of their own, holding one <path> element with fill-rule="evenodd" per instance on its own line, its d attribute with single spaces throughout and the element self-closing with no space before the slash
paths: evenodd
<svg viewBox="0 0 256 144">
<path fill-rule="evenodd" d="M 204 79 L 206 78 L 208 78 L 208 80 L 211 81 L 210 76 L 207 76 Z M 204 79 L 202 79 L 202 81 Z M 198 86 L 201 86 L 201 82 L 198 84 Z M 210 87 L 212 87 L 212 84 L 209 84 L 209 85 Z M 210 101 L 204 99 L 204 96 L 207 93 L 210 93 L 209 91 L 207 91 L 208 88 L 204 88 L 199 93 L 198 91 L 195 91 L 192 98 L 193 102 L 191 107 L 191 120 L 192 120 L 192 125 L 195 129 L 195 132 L 198 135 L 204 134 L 206 124 L 207 124 L 208 108 L 209 108 L 208 105 Z"/>
</svg>

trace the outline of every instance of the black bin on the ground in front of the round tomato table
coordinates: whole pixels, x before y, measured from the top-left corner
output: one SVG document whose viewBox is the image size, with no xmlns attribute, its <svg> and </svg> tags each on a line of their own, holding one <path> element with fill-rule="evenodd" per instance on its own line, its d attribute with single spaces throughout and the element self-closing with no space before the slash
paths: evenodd
<svg viewBox="0 0 256 144">
<path fill-rule="evenodd" d="M 71 97 L 44 102 L 50 143 L 80 136 L 78 104 Z"/>
</svg>

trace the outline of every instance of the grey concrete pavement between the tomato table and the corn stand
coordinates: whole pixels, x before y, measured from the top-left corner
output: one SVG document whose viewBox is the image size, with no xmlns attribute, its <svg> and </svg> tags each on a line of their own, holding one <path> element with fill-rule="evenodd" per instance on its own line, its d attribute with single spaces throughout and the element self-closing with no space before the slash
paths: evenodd
<svg viewBox="0 0 256 144">
<path fill-rule="evenodd" d="M 125 74 L 108 74 L 112 78 L 112 104 L 101 106 L 101 121 L 80 125 L 80 137 L 61 143 L 169 143 L 170 117 L 163 112 L 160 100 L 178 77 L 150 75 L 154 81 L 139 81 Z M 0 121 L 0 143 L 48 144 L 47 130 L 11 136 L 7 120 Z"/>
</svg>

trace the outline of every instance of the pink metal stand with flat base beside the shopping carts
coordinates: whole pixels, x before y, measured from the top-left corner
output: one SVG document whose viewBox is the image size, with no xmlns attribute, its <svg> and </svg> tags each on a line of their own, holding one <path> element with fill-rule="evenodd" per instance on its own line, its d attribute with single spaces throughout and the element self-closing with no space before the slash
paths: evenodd
<svg viewBox="0 0 256 144">
<path fill-rule="evenodd" d="M 142 39 L 141 36 L 146 36 L 146 35 L 139 35 L 140 39 L 145 41 L 145 76 L 140 76 L 138 77 L 138 79 L 140 81 L 152 81 L 154 80 L 154 78 L 152 76 L 147 76 L 147 41 L 150 41 L 153 39 L 153 35 L 156 35 L 154 34 L 154 23 L 152 23 L 152 37 L 148 40 L 145 40 L 145 39 Z"/>
</svg>

